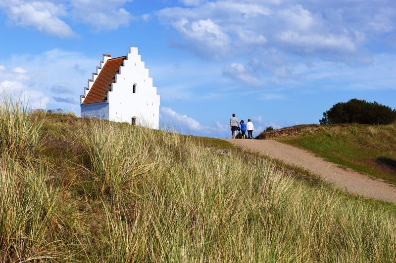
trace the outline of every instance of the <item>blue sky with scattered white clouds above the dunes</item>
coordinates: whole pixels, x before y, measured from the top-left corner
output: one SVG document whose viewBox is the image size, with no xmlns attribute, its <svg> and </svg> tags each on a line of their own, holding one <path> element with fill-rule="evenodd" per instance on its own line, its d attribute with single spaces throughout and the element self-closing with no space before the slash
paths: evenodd
<svg viewBox="0 0 396 263">
<path fill-rule="evenodd" d="M 229 137 L 318 123 L 351 98 L 396 108 L 394 0 L 0 0 L 0 87 L 80 113 L 102 54 L 137 46 L 160 122 Z M 256 133 L 256 134 L 257 134 Z"/>
</svg>

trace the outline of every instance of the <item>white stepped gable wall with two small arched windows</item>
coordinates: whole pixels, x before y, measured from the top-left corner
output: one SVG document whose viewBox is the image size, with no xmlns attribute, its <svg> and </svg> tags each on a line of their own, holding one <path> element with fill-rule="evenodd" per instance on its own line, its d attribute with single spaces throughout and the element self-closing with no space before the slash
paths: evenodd
<svg viewBox="0 0 396 263">
<path fill-rule="evenodd" d="M 134 84 L 137 85 L 136 93 L 133 93 Z M 159 95 L 157 88 L 152 86 L 152 78 L 141 61 L 138 48 L 130 47 L 107 94 L 109 120 L 131 123 L 136 117 L 136 124 L 158 129 Z"/>
</svg>

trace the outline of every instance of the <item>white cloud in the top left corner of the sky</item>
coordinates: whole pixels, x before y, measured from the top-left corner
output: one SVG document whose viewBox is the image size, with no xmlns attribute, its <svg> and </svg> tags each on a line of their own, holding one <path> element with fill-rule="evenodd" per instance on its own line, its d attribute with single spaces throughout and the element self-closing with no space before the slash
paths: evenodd
<svg viewBox="0 0 396 263">
<path fill-rule="evenodd" d="M 2 1 L 9 20 L 16 26 L 33 27 L 38 31 L 61 38 L 74 37 L 76 34 L 59 17 L 66 15 L 62 4 L 49 1 Z"/>
</svg>

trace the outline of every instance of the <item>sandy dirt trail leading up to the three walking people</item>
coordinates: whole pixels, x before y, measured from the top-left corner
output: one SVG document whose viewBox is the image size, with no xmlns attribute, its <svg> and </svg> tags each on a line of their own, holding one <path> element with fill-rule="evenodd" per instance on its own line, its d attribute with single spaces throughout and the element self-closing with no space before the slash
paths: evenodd
<svg viewBox="0 0 396 263">
<path fill-rule="evenodd" d="M 258 151 L 285 163 L 303 167 L 350 193 L 396 203 L 396 187 L 351 169 L 340 168 L 338 164 L 325 161 L 306 150 L 272 140 L 225 140 L 242 149 Z"/>
</svg>

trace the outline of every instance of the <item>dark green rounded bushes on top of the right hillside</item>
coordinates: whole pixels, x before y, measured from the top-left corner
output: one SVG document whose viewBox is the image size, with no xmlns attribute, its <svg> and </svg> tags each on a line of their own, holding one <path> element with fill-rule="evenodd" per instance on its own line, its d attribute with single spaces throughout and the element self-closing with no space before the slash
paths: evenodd
<svg viewBox="0 0 396 263">
<path fill-rule="evenodd" d="M 320 124 L 361 123 L 390 124 L 396 121 L 396 109 L 365 100 L 351 99 L 339 102 L 323 113 Z"/>
</svg>

